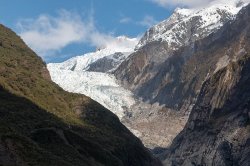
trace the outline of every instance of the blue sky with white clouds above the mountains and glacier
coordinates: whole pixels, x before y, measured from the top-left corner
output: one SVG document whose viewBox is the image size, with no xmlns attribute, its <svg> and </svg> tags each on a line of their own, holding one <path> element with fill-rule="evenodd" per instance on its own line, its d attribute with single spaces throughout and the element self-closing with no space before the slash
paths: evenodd
<svg viewBox="0 0 250 166">
<path fill-rule="evenodd" d="M 11 28 L 44 61 L 62 62 L 116 42 L 140 38 L 177 6 L 212 0 L 0 0 L 0 23 Z"/>
</svg>

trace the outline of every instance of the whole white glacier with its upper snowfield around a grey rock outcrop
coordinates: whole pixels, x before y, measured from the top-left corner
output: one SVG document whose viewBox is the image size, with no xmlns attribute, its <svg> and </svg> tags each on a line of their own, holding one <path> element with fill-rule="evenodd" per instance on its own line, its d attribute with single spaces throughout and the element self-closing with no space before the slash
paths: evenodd
<svg viewBox="0 0 250 166">
<path fill-rule="evenodd" d="M 118 37 L 121 45 L 112 44 L 96 52 L 73 57 L 63 63 L 49 63 L 51 79 L 64 90 L 84 94 L 115 113 L 120 119 L 136 103 L 133 93 L 118 84 L 110 73 L 134 51 L 137 38 Z M 117 53 L 119 57 L 116 57 Z M 88 71 L 91 64 L 108 58 L 116 62 L 110 72 Z"/>
</svg>

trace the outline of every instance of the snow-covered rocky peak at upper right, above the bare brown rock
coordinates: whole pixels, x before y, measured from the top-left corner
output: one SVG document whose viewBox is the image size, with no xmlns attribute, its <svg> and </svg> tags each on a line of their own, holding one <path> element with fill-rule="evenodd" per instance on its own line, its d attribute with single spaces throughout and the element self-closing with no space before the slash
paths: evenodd
<svg viewBox="0 0 250 166">
<path fill-rule="evenodd" d="M 136 49 L 152 41 L 165 41 L 170 49 L 177 49 L 217 31 L 250 0 L 216 0 L 206 7 L 177 8 L 166 20 L 150 28 Z"/>
</svg>

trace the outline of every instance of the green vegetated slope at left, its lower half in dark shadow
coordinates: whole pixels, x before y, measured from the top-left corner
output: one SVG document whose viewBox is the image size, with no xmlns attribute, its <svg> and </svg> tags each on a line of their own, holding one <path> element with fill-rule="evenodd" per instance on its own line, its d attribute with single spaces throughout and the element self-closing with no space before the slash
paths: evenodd
<svg viewBox="0 0 250 166">
<path fill-rule="evenodd" d="M 160 165 L 110 111 L 63 91 L 0 25 L 0 165 Z"/>
</svg>

